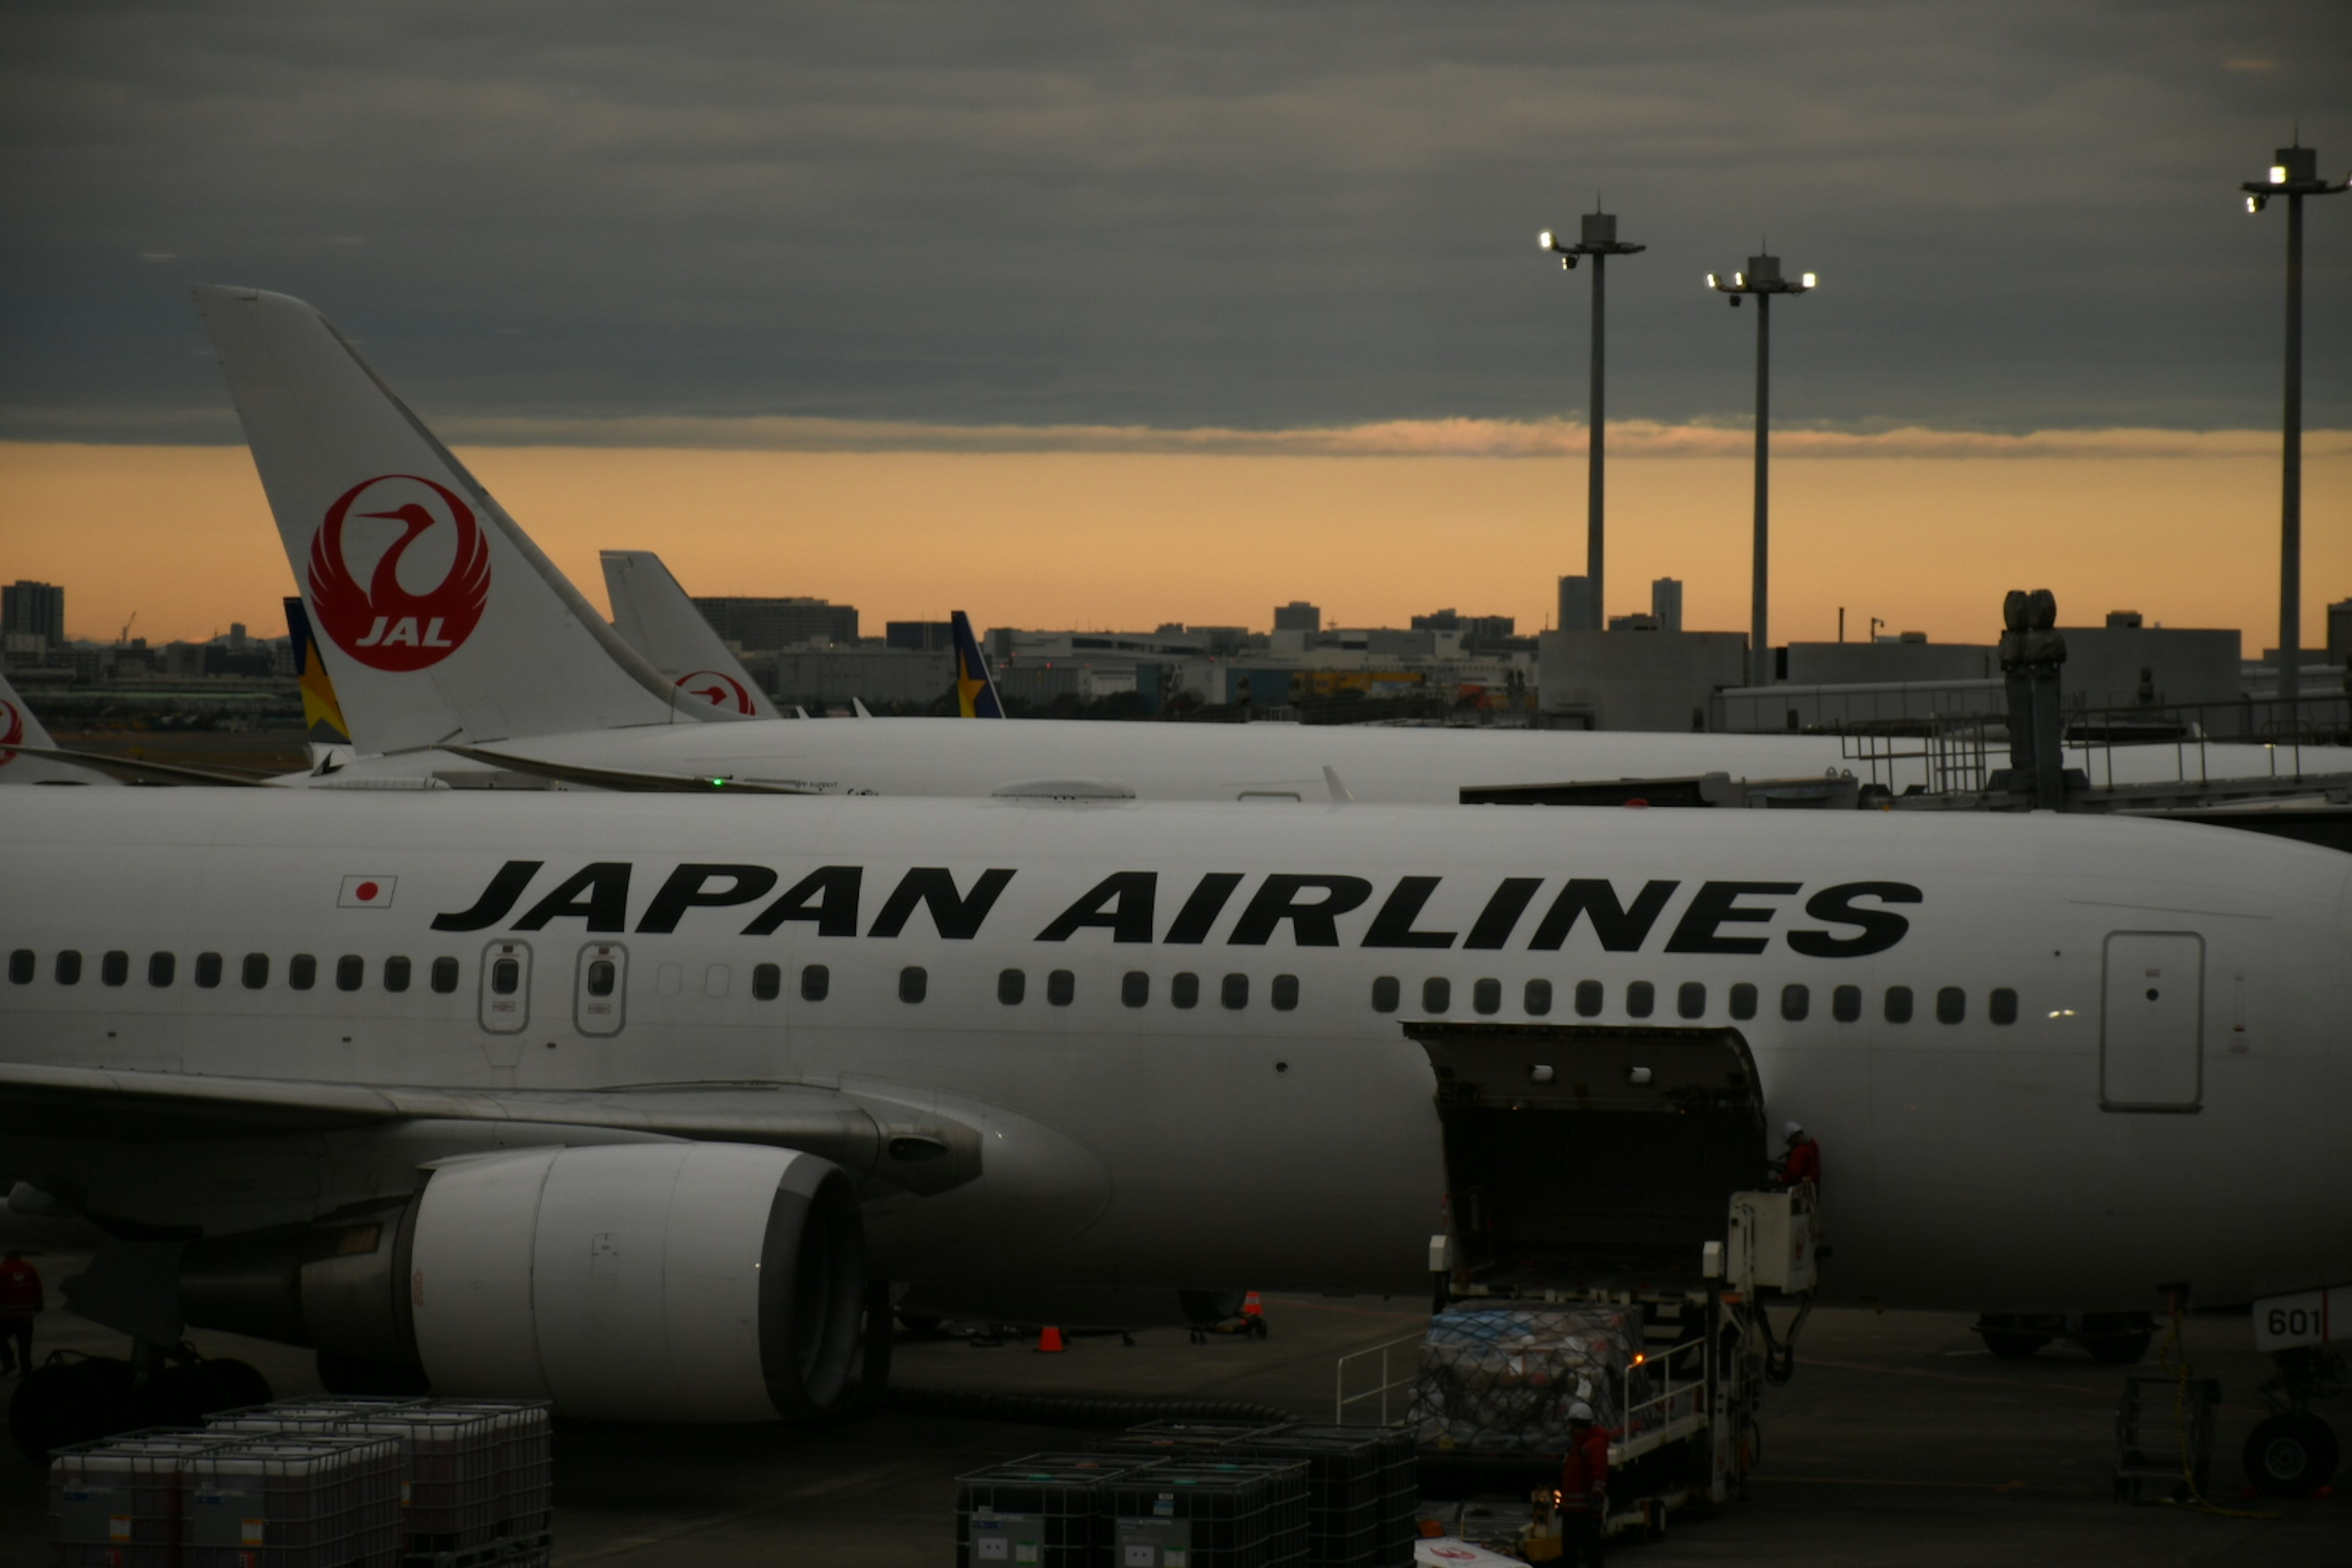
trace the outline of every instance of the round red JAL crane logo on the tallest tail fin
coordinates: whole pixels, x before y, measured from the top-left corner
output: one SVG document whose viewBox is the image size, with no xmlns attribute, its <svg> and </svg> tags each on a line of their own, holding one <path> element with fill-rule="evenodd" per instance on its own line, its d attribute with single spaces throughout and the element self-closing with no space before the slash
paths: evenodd
<svg viewBox="0 0 2352 1568">
<path fill-rule="evenodd" d="M 362 505 L 362 498 L 372 505 Z M 407 529 L 376 562 L 365 588 L 343 559 L 348 517 L 381 517 Z M 400 562 L 409 545 L 442 527 L 454 529 L 449 571 L 426 592 L 409 592 L 400 581 Z M 388 473 L 353 484 L 327 508 L 327 520 L 310 541 L 310 616 L 334 646 L 374 670 L 437 665 L 466 644 L 487 604 L 489 541 L 482 538 L 482 524 L 456 491 L 421 475 Z"/>
</svg>

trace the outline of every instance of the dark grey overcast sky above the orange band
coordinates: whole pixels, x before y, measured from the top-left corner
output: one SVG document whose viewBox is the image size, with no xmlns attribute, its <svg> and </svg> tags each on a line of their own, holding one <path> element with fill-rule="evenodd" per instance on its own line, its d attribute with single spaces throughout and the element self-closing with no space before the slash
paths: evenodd
<svg viewBox="0 0 2352 1568">
<path fill-rule="evenodd" d="M 301 294 L 430 421 L 1282 430 L 1611 414 L 2272 428 L 2343 0 L 0 9 L 0 437 L 235 440 L 191 282 Z M 2352 197 L 2310 209 L 2352 425 Z M 562 421 L 581 421 L 567 425 Z M 609 437 L 607 437 L 609 440 Z"/>
</svg>

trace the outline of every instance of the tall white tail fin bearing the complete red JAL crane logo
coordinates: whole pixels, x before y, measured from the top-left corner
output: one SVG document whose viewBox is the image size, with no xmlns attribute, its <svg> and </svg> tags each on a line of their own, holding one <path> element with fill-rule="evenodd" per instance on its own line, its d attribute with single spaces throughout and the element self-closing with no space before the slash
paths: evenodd
<svg viewBox="0 0 2352 1568">
<path fill-rule="evenodd" d="M 195 306 L 360 750 L 687 712 L 327 317 L 261 289 Z"/>
</svg>

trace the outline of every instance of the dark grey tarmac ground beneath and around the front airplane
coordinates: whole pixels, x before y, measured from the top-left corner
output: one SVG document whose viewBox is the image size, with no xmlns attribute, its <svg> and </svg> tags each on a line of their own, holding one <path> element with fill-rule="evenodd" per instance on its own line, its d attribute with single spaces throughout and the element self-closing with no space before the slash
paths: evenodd
<svg viewBox="0 0 2352 1568">
<path fill-rule="evenodd" d="M 40 1260 L 54 1281 L 75 1265 Z M 1265 1302 L 1265 1340 L 1181 1328 L 1080 1338 L 1065 1354 L 1028 1340 L 995 1347 L 901 1338 L 891 1382 L 1124 1399 L 1228 1399 L 1331 1420 L 1341 1354 L 1416 1335 L 1425 1312 L 1378 1298 Z M 2126 1368 L 2065 1347 L 1999 1361 L 1966 1314 L 1820 1309 L 1797 1378 L 1771 1389 L 1762 1465 L 1745 1502 L 1677 1514 L 1665 1540 L 1618 1542 L 1639 1568 L 1675 1563 L 2328 1563 L 2352 1561 L 2352 1495 L 2241 1497 L 2239 1446 L 2263 1415 L 2244 1314 L 2187 1319 L 2197 1375 L 2220 1378 L 2220 1453 L 2211 1502 L 2227 1514 L 2114 1502 L 2114 1408 Z M 207 1354 L 259 1366 L 282 1396 L 318 1392 L 303 1352 L 195 1335 Z M 38 1354 L 120 1354 L 120 1335 L 64 1312 L 40 1319 Z M 2154 1371 L 2154 1354 L 2138 1373 Z M 2324 1408 L 2352 1436 L 2352 1399 Z M 557 1422 L 555 1561 L 858 1563 L 955 1561 L 955 1476 L 1089 1434 L 896 1410 L 842 1427 L 626 1427 Z M 0 1568 L 47 1561 L 42 1472 L 0 1455 Z"/>
</svg>

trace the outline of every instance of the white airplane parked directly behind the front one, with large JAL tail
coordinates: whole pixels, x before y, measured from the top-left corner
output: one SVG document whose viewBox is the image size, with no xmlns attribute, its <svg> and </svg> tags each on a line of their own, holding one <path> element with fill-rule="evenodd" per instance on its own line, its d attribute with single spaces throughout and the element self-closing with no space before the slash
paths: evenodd
<svg viewBox="0 0 2352 1568">
<path fill-rule="evenodd" d="M 659 661 L 649 663 L 588 607 L 318 310 L 285 294 L 228 287 L 200 287 L 195 301 L 362 752 L 329 776 L 282 783 L 433 788 L 534 778 L 607 790 L 981 797 L 1009 788 L 1456 804 L 1463 790 L 1689 780 L 1712 771 L 1818 780 L 1858 764 L 1839 736 L 781 724 L 757 712 L 757 693 L 750 715 L 741 703 L 713 708 L 687 698 Z M 675 583 L 663 592 L 682 597 Z M 616 614 L 628 618 L 619 602 Z M 960 639 L 960 696 L 976 658 L 978 646 Z M 981 717 L 983 696 L 974 691 L 971 701 Z M 717 722 L 687 722 L 696 717 Z M 2114 752 L 2119 778 L 2133 766 L 2171 764 L 2169 748 L 2136 750 Z M 2260 745 L 2204 748 L 2204 769 L 2216 778 L 2267 773 L 2272 764 Z M 1924 780 L 1924 759 L 1907 766 L 1891 771 L 1896 790 Z M 2352 752 L 2321 757 L 2307 748 L 2305 766 L 2352 771 Z"/>
</svg>

